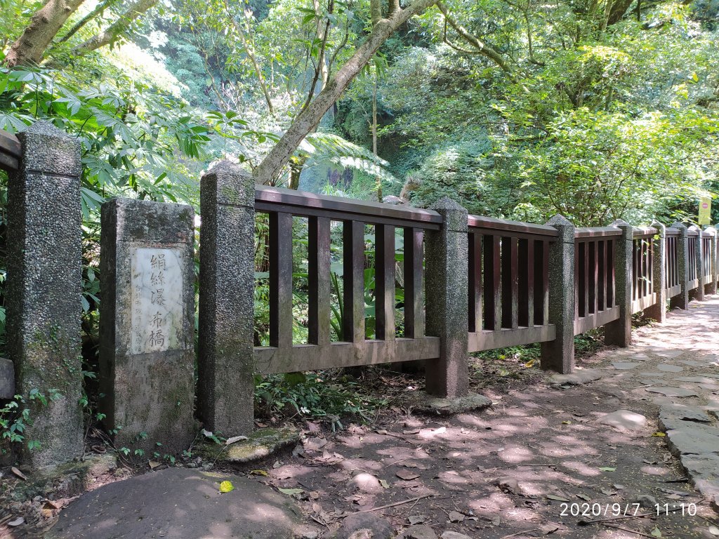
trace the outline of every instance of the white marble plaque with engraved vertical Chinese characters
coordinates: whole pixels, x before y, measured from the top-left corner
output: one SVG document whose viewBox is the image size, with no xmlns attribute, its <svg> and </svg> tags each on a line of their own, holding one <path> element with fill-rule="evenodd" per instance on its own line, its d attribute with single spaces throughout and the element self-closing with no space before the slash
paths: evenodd
<svg viewBox="0 0 719 539">
<path fill-rule="evenodd" d="M 132 249 L 130 354 L 183 348 L 183 252 Z"/>
</svg>

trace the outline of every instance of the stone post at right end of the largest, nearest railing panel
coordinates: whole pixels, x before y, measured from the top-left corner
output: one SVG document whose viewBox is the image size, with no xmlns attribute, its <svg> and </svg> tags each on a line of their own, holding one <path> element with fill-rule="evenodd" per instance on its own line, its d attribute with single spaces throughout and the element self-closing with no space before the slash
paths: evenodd
<svg viewBox="0 0 719 539">
<path fill-rule="evenodd" d="M 446 197 L 431 209 L 444 223 L 426 234 L 427 334 L 440 341 L 439 359 L 426 362 L 426 387 L 437 397 L 463 397 L 470 378 L 467 210 Z"/>
</svg>

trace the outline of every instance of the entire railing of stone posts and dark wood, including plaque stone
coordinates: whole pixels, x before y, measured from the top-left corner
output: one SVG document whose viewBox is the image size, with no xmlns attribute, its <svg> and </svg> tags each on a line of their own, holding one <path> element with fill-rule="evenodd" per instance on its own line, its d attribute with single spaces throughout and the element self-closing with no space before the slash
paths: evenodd
<svg viewBox="0 0 719 539">
<path fill-rule="evenodd" d="M 32 426 L 44 445 L 29 458 L 48 464 L 81 453 L 79 152 L 48 124 L 19 138 L 22 149 L 0 137 L 0 164 L 11 172 L 8 351 L 19 392 L 62 390 Z M 254 346 L 256 213 L 269 215 L 269 346 Z M 687 308 L 717 285 L 714 229 L 623 221 L 577 229 L 562 216 L 546 225 L 471 216 L 447 199 L 429 210 L 352 201 L 255 186 L 229 162 L 203 176 L 201 215 L 195 391 L 192 209 L 129 199 L 103 207 L 101 412 L 108 428 L 123 426 L 120 443 L 147 433 L 147 443 L 183 447 L 197 428 L 195 392 L 207 430 L 248 433 L 258 373 L 423 359 L 427 391 L 452 398 L 467 393 L 469 352 L 531 343 L 541 343 L 544 369 L 571 372 L 576 334 L 605 326 L 608 344 L 628 346 L 632 315 L 663 321 L 667 301 Z M 308 229 L 303 344 L 293 342 L 297 217 Z M 365 331 L 367 225 L 373 338 Z M 342 326 L 333 341 L 331 231 L 340 226 Z"/>
</svg>

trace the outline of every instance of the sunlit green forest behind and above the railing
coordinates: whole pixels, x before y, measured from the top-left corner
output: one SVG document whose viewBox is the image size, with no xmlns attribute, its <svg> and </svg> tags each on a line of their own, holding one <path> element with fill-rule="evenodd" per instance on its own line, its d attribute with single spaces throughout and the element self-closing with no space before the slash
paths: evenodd
<svg viewBox="0 0 719 539">
<path fill-rule="evenodd" d="M 719 192 L 718 14 L 719 0 L 2 0 L 0 128 L 49 119 L 82 145 L 88 378 L 99 206 L 198 211 L 201 172 L 224 158 L 267 185 L 421 207 L 449 196 L 521 221 L 693 221 Z M 302 341 L 306 241 L 294 263 Z M 341 316 L 337 303 L 334 327 Z"/>
</svg>

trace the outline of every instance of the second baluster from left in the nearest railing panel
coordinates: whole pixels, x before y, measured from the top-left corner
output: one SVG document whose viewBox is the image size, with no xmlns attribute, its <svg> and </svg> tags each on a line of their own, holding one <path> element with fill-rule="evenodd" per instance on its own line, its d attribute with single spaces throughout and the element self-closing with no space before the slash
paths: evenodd
<svg viewBox="0 0 719 539">
<path fill-rule="evenodd" d="M 309 344 L 329 344 L 331 316 L 330 221 L 308 218 L 308 307 Z"/>
</svg>

